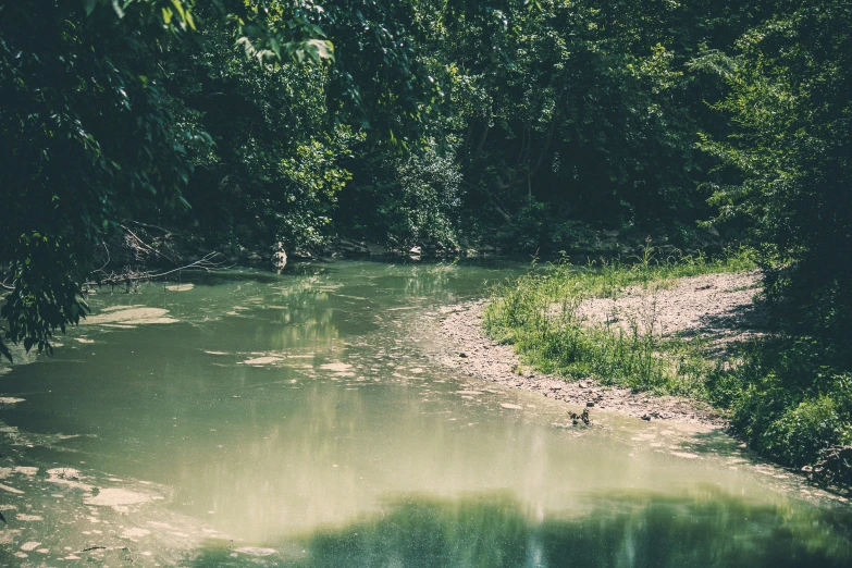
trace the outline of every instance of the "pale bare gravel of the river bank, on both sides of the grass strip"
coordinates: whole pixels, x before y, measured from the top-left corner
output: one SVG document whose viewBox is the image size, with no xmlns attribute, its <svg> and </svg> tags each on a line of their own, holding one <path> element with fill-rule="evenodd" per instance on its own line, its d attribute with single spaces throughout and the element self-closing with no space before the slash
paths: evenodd
<svg viewBox="0 0 852 568">
<path fill-rule="evenodd" d="M 657 330 L 663 333 L 694 332 L 727 343 L 754 331 L 752 296 L 756 274 L 712 274 L 682 279 L 667 289 L 644 294 L 627 291 L 619 299 L 593 299 L 581 310 L 592 322 L 641 319 L 653 306 Z M 436 339 L 440 361 L 469 375 L 523 391 L 540 393 L 577 407 L 615 411 L 645 420 L 676 420 L 723 428 L 727 421 L 708 405 L 676 398 L 633 393 L 629 388 L 603 386 L 585 379 L 566 382 L 558 376 L 524 370 L 511 346 L 489 339 L 481 326 L 485 301 L 446 308 Z M 646 312 L 644 312 L 646 313 Z M 748 322 L 748 324 L 746 324 Z"/>
</svg>

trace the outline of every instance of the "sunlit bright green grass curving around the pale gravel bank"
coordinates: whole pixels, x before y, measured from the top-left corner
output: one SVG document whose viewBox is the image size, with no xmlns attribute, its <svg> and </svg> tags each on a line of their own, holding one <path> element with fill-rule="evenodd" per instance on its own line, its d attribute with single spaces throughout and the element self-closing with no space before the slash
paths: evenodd
<svg viewBox="0 0 852 568">
<path fill-rule="evenodd" d="M 653 291 L 683 276 L 754 269 L 748 250 L 716 259 L 660 259 L 657 252 L 649 244 L 632 263 L 559 261 L 498 286 L 484 312 L 485 331 L 515 344 L 527 365 L 543 372 L 706 398 L 703 378 L 711 363 L 702 357 L 701 339 L 663 337 L 655 309 L 626 325 L 582 321 L 579 308 L 590 298 L 616 299 L 631 286 Z"/>
</svg>

